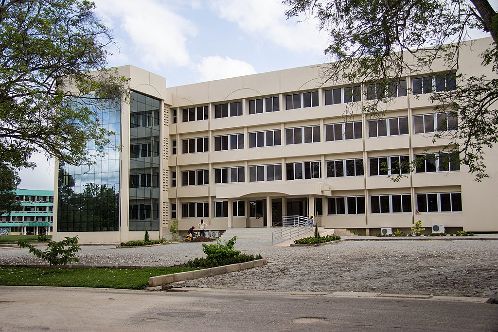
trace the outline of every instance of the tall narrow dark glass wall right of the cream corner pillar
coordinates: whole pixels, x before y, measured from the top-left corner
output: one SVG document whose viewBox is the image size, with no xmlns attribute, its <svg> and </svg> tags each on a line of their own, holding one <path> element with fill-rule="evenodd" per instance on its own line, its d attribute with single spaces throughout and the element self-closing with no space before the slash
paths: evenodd
<svg viewBox="0 0 498 332">
<path fill-rule="evenodd" d="M 159 230 L 159 111 L 158 99 L 131 92 L 130 231 Z"/>
</svg>

